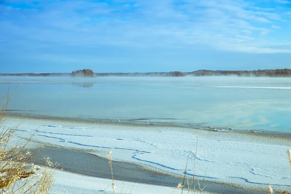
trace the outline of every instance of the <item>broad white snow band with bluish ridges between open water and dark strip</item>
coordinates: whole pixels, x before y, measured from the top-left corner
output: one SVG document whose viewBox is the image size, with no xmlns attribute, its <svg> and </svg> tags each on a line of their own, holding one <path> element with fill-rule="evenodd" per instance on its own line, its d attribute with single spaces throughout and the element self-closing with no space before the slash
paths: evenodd
<svg viewBox="0 0 291 194">
<path fill-rule="evenodd" d="M 17 138 L 29 138 L 51 146 L 80 148 L 106 158 L 109 150 L 115 161 L 144 165 L 146 168 L 183 176 L 193 176 L 196 141 L 198 178 L 231 183 L 247 188 L 291 189 L 291 169 L 286 151 L 291 140 L 170 126 L 89 124 L 10 118 L 6 127 L 21 125 Z M 113 162 L 114 166 L 114 162 Z M 64 174 L 64 176 L 67 176 Z M 65 184 L 56 178 L 55 184 Z M 175 187 L 176 185 L 173 185 Z"/>
</svg>

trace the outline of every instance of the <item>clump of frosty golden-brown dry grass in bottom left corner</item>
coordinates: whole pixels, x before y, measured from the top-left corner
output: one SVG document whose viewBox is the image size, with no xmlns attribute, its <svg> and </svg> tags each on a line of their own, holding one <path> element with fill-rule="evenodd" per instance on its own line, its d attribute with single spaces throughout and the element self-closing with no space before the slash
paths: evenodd
<svg viewBox="0 0 291 194">
<path fill-rule="evenodd" d="M 7 99 L 3 99 L 0 107 L 0 193 L 49 194 L 53 181 L 51 163 L 46 161 L 43 169 L 29 163 L 32 156 L 26 149 L 29 140 L 14 142 L 17 127 L 8 129 L 4 125 L 4 114 L 12 95 L 9 96 L 8 90 Z"/>
</svg>

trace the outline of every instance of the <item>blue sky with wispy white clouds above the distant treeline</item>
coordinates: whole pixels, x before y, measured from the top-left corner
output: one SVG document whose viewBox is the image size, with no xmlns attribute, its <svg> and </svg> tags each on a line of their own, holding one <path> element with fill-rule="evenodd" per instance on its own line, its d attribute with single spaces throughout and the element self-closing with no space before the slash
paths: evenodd
<svg viewBox="0 0 291 194">
<path fill-rule="evenodd" d="M 0 67 L 291 68 L 291 0 L 0 0 Z"/>
</svg>

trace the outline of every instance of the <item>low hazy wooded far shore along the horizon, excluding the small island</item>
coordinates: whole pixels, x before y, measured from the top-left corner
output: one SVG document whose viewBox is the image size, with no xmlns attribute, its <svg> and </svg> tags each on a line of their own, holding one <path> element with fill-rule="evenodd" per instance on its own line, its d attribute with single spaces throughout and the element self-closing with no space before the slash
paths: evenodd
<svg viewBox="0 0 291 194">
<path fill-rule="evenodd" d="M 155 76 L 155 77 L 184 77 L 184 76 L 240 76 L 240 77 L 291 77 L 291 69 L 263 69 L 263 70 L 197 70 L 192 72 L 148 72 L 148 73 L 95 73 L 96 76 Z M 57 77 L 71 76 L 71 73 L 0 73 L 0 76 L 35 76 Z"/>
</svg>

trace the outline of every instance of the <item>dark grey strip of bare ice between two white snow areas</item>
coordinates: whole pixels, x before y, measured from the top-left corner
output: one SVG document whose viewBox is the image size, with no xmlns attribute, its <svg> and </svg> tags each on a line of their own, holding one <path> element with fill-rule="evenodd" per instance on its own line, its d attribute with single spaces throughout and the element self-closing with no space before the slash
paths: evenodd
<svg viewBox="0 0 291 194">
<path fill-rule="evenodd" d="M 111 171 L 108 160 L 100 158 L 95 154 L 58 147 L 43 147 L 39 148 L 36 151 L 36 153 L 32 156 L 31 161 L 44 157 L 51 158 L 51 162 L 53 163 L 59 163 L 56 168 L 62 169 L 65 172 L 84 175 L 88 177 L 111 179 Z M 82 161 L 76 160 L 80 157 L 83 159 Z M 67 158 L 71 159 L 71 161 L 68 161 Z M 94 163 L 92 163 L 92 161 L 94 161 Z M 35 163 L 42 166 L 45 165 L 45 162 L 42 160 L 37 160 Z M 166 186 L 172 187 L 173 189 L 178 185 L 178 183 L 183 182 L 183 178 L 171 177 L 169 175 L 164 175 L 159 172 L 146 170 L 137 164 L 116 161 L 113 161 L 113 177 L 114 180 Z M 214 194 L 265 193 L 265 191 L 247 190 L 223 183 L 204 182 L 204 185 L 206 187 L 203 191 Z M 197 186 L 198 185 L 196 185 L 196 190 L 199 190 Z"/>
</svg>

